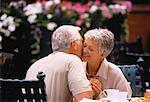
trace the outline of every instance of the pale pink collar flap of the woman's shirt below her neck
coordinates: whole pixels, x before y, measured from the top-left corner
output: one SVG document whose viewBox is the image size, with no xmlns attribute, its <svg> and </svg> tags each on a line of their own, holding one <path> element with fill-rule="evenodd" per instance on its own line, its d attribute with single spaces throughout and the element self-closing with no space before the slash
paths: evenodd
<svg viewBox="0 0 150 102">
<path fill-rule="evenodd" d="M 96 75 L 99 75 L 101 78 L 107 80 L 108 77 L 108 61 L 106 58 L 102 61 L 101 66 Z"/>
</svg>

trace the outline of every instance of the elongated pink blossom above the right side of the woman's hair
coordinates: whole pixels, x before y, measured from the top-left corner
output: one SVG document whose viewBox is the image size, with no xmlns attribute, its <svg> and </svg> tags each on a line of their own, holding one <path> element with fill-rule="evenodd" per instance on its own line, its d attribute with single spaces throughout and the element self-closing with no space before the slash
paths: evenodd
<svg viewBox="0 0 150 102">
<path fill-rule="evenodd" d="M 110 12 L 109 8 L 106 6 L 106 4 L 103 4 L 101 7 L 102 15 L 106 18 L 112 18 L 112 13 Z"/>
</svg>

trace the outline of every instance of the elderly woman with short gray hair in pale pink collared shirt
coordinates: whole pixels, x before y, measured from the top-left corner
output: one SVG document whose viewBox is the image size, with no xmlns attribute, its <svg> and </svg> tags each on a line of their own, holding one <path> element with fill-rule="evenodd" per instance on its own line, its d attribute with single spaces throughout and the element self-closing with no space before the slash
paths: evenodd
<svg viewBox="0 0 150 102">
<path fill-rule="evenodd" d="M 131 97 L 132 90 L 121 70 L 106 57 L 114 47 L 114 35 L 107 29 L 93 29 L 84 34 L 84 49 L 82 60 L 87 62 L 88 77 L 96 77 L 104 89 L 118 89 L 128 92 Z"/>
</svg>

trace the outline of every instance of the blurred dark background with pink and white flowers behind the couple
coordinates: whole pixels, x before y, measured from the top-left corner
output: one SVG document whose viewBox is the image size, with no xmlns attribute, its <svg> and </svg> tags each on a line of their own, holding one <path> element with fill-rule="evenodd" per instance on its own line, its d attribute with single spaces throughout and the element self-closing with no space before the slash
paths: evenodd
<svg viewBox="0 0 150 102">
<path fill-rule="evenodd" d="M 115 47 L 107 59 L 117 65 L 142 66 L 134 71 L 139 89 L 135 96 L 149 88 L 149 83 L 143 83 L 143 73 L 150 75 L 150 0 L 0 2 L 1 78 L 23 79 L 32 63 L 52 52 L 52 32 L 60 25 L 72 24 L 81 27 L 82 35 L 98 27 L 112 31 Z"/>
</svg>

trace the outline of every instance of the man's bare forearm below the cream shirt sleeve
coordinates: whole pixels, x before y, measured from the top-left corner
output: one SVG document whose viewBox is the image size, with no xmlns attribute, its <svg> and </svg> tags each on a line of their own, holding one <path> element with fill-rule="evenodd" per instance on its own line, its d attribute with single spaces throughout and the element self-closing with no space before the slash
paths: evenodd
<svg viewBox="0 0 150 102">
<path fill-rule="evenodd" d="M 93 92 L 87 91 L 74 96 L 76 102 L 80 102 L 83 98 L 93 99 Z"/>
</svg>

